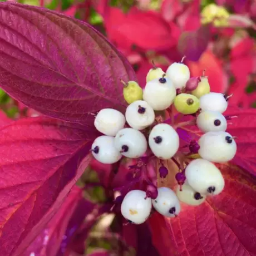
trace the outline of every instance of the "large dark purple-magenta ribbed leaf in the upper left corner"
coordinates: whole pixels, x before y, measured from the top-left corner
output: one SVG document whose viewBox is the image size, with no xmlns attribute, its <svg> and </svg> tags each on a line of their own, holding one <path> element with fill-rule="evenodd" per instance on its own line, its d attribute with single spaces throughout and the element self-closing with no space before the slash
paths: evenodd
<svg viewBox="0 0 256 256">
<path fill-rule="evenodd" d="M 89 24 L 35 6 L 0 3 L 0 85 L 42 114 L 92 126 L 102 107 L 124 110 L 131 65 Z"/>
</svg>

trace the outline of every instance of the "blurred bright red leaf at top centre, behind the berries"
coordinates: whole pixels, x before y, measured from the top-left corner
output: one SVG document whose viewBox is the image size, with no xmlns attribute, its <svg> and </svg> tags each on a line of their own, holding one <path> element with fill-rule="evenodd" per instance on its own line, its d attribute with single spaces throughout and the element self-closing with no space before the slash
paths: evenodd
<svg viewBox="0 0 256 256">
<path fill-rule="evenodd" d="M 109 39 L 121 48 L 135 45 L 142 50 L 167 50 L 176 44 L 171 27 L 157 12 L 134 7 L 125 14 L 110 7 L 104 18 Z"/>
</svg>

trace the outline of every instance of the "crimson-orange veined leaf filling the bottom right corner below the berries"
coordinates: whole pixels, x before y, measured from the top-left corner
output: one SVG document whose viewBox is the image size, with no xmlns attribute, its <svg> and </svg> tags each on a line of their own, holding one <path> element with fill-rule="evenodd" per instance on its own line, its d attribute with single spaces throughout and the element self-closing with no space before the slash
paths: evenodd
<svg viewBox="0 0 256 256">
<path fill-rule="evenodd" d="M 223 166 L 225 189 L 200 206 L 183 204 L 177 218 L 155 214 L 152 240 L 166 255 L 256 255 L 256 179 Z"/>
</svg>

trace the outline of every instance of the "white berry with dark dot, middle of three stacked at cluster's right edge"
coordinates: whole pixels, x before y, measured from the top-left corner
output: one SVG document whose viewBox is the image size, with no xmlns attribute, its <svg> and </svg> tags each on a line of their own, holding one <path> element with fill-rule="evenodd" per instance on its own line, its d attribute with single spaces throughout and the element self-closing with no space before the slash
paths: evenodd
<svg viewBox="0 0 256 256">
<path fill-rule="evenodd" d="M 203 132 L 227 130 L 227 120 L 216 111 L 203 111 L 196 117 L 196 125 Z"/>
</svg>

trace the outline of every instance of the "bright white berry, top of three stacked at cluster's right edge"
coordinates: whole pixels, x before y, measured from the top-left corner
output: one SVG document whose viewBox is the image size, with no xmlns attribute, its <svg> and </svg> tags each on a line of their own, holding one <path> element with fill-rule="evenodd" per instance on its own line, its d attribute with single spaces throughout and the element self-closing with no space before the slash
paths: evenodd
<svg viewBox="0 0 256 256">
<path fill-rule="evenodd" d="M 211 110 L 223 113 L 227 110 L 228 102 L 222 93 L 210 92 L 200 97 L 202 111 Z"/>
</svg>

